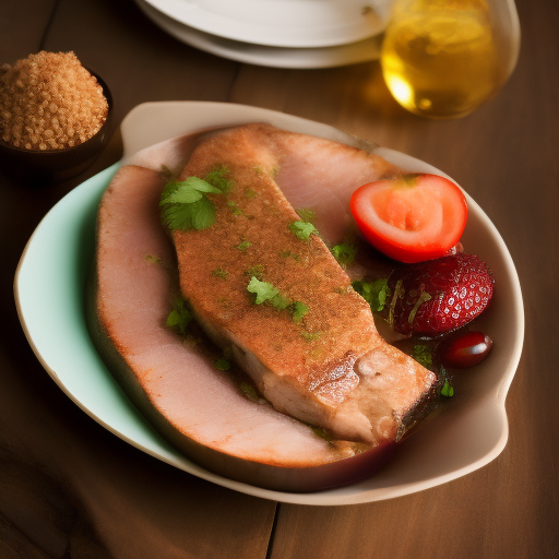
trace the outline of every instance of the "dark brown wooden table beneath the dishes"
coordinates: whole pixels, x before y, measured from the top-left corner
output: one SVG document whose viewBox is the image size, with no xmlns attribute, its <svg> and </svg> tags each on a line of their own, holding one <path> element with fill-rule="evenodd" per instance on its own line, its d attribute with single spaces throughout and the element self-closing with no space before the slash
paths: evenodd
<svg viewBox="0 0 559 559">
<path fill-rule="evenodd" d="M 486 211 L 523 287 L 526 336 L 507 400 L 510 437 L 489 465 L 423 492 L 348 507 L 276 503 L 198 479 L 106 431 L 31 350 L 12 282 L 26 240 L 75 179 L 29 191 L 0 179 L 0 557 L 559 557 L 559 8 L 518 0 L 519 64 L 471 116 L 429 121 L 390 97 L 379 64 L 270 69 L 167 36 L 132 0 L 3 0 L 0 62 L 74 50 L 108 82 L 115 123 L 147 100 L 266 107 L 343 128 L 443 169 Z"/>
</svg>

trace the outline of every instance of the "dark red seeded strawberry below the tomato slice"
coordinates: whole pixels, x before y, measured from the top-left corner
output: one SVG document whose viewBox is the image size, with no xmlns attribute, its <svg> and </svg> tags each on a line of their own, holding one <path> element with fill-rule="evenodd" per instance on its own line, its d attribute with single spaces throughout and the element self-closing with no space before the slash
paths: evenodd
<svg viewBox="0 0 559 559">
<path fill-rule="evenodd" d="M 389 322 L 401 334 L 436 336 L 485 310 L 493 276 L 474 254 L 459 253 L 400 266 L 389 277 Z"/>
</svg>

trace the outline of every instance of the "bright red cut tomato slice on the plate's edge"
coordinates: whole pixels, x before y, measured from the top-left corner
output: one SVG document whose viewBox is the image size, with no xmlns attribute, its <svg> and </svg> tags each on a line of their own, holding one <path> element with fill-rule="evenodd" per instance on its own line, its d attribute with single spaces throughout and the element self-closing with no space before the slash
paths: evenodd
<svg viewBox="0 0 559 559">
<path fill-rule="evenodd" d="M 444 255 L 462 237 L 467 202 L 454 182 L 437 175 L 405 175 L 359 187 L 352 214 L 367 241 L 401 262 Z"/>
</svg>

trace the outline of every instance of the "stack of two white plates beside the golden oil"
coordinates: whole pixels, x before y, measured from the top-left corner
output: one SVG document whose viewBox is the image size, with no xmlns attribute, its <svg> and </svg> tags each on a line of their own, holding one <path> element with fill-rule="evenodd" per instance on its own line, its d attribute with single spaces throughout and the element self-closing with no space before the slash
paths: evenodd
<svg viewBox="0 0 559 559">
<path fill-rule="evenodd" d="M 135 0 L 156 25 L 201 50 L 274 68 L 376 60 L 392 0 Z"/>
</svg>

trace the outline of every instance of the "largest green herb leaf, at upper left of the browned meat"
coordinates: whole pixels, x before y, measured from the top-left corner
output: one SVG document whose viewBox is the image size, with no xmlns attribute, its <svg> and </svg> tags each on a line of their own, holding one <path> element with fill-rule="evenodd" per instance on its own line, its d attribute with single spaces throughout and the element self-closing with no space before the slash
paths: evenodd
<svg viewBox="0 0 559 559">
<path fill-rule="evenodd" d="M 159 201 L 163 222 L 170 230 L 205 229 L 215 222 L 215 206 L 206 194 L 221 193 L 198 177 L 167 182 Z"/>
</svg>

